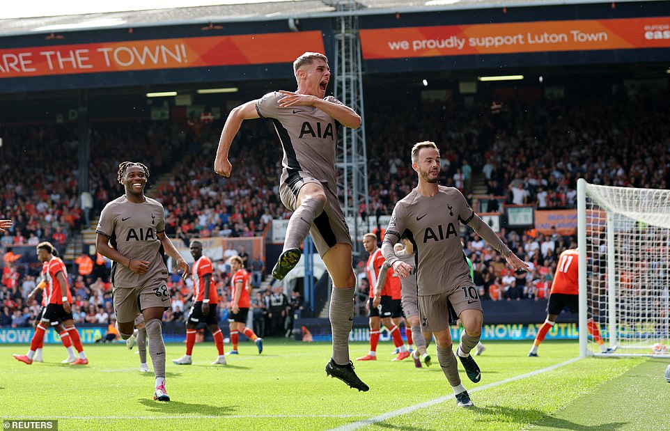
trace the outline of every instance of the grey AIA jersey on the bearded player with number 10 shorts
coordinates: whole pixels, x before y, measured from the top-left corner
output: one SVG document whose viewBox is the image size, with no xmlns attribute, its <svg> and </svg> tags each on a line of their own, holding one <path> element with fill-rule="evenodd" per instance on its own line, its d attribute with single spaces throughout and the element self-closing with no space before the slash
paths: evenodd
<svg viewBox="0 0 670 431">
<path fill-rule="evenodd" d="M 430 197 L 414 189 L 396 203 L 384 243 L 395 244 L 405 233 L 414 244 L 417 295 L 438 295 L 474 285 L 459 234 L 460 223 L 467 224 L 472 217 L 472 208 L 454 187 L 437 186 L 437 194 Z M 393 264 L 386 253 L 384 258 Z"/>
</svg>

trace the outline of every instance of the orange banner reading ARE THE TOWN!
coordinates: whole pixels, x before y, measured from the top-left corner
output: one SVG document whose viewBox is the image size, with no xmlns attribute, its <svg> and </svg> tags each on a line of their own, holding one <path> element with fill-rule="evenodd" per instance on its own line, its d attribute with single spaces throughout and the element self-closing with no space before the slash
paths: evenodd
<svg viewBox="0 0 670 431">
<path fill-rule="evenodd" d="M 324 52 L 320 31 L 0 49 L 0 78 L 293 63 L 306 51 Z"/>
</svg>

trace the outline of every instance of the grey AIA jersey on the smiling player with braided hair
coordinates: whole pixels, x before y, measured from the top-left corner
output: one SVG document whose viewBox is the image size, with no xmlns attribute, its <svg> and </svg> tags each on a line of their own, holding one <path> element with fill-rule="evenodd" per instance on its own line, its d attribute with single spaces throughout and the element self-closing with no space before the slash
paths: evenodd
<svg viewBox="0 0 670 431">
<path fill-rule="evenodd" d="M 158 201 L 146 198 L 143 203 L 132 203 L 125 195 L 116 198 L 104 206 L 95 231 L 107 235 L 111 246 L 123 256 L 150 262 L 148 272 L 141 275 L 115 263 L 111 273 L 115 288 L 134 288 L 146 281 L 167 279 L 157 235 L 165 231 L 165 214 Z"/>
</svg>

